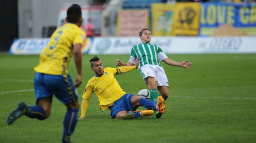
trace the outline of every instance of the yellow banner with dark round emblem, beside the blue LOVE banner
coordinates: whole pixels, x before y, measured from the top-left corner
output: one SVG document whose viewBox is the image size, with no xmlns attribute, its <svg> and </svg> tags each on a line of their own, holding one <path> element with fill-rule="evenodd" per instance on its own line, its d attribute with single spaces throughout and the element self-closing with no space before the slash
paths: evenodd
<svg viewBox="0 0 256 143">
<path fill-rule="evenodd" d="M 176 3 L 173 17 L 174 35 L 198 36 L 200 3 L 178 2 Z"/>
</svg>

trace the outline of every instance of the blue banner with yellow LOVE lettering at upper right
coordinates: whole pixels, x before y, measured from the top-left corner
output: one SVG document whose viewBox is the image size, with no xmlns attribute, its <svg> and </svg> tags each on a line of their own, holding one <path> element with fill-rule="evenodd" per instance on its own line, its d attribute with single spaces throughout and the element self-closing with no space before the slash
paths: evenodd
<svg viewBox="0 0 256 143">
<path fill-rule="evenodd" d="M 256 3 L 200 3 L 199 36 L 210 36 L 224 24 L 256 36 Z"/>
</svg>

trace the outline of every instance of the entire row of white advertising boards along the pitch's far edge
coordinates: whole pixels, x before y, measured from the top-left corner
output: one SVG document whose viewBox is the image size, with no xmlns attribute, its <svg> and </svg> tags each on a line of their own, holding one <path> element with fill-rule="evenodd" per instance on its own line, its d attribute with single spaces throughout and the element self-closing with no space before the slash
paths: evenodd
<svg viewBox="0 0 256 143">
<path fill-rule="evenodd" d="M 14 40 L 11 54 L 39 54 L 49 38 Z M 140 44 L 139 37 L 86 38 L 82 53 L 90 55 L 130 54 L 132 46 Z M 166 54 L 176 53 L 256 53 L 255 36 L 229 37 L 152 37 L 151 44 Z"/>
</svg>

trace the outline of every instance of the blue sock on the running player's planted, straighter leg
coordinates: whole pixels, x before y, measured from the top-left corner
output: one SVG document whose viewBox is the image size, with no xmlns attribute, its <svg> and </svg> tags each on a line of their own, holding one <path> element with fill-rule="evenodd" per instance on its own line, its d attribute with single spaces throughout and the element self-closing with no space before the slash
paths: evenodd
<svg viewBox="0 0 256 143">
<path fill-rule="evenodd" d="M 78 122 L 78 111 L 79 109 L 67 109 L 66 115 L 64 117 L 63 121 L 63 135 L 62 135 L 62 141 L 63 142 L 69 142 L 70 141 L 70 135 L 74 132 L 76 123 Z"/>
</svg>

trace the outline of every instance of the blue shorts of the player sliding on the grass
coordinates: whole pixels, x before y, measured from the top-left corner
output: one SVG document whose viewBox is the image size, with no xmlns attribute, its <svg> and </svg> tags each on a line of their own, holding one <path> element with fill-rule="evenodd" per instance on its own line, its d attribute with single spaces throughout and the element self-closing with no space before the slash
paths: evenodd
<svg viewBox="0 0 256 143">
<path fill-rule="evenodd" d="M 114 104 L 109 107 L 111 111 L 111 118 L 116 118 L 116 115 L 120 111 L 135 111 L 136 109 L 132 106 L 131 98 L 132 94 L 124 94 L 120 99 L 116 100 Z"/>
</svg>

